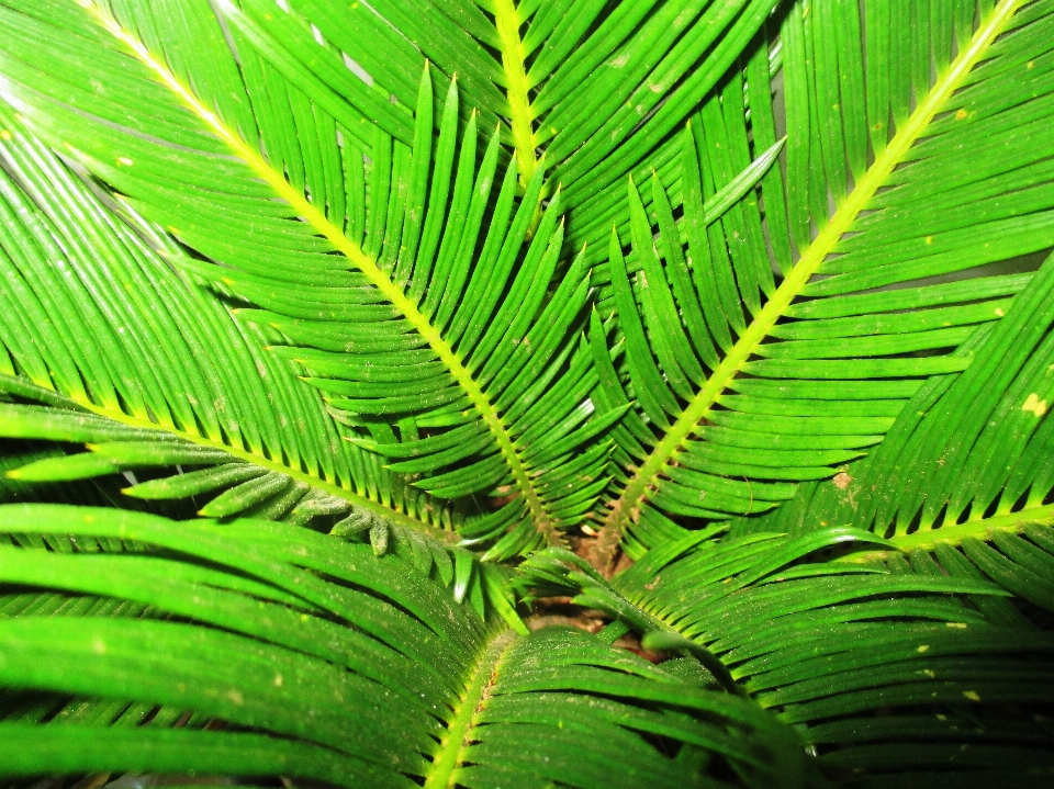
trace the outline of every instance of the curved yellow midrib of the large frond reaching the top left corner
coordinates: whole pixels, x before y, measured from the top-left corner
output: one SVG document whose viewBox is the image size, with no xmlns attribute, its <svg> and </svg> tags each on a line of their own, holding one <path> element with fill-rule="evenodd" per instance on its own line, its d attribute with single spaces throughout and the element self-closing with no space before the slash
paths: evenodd
<svg viewBox="0 0 1054 789">
<path fill-rule="evenodd" d="M 428 318 L 417 306 L 406 297 L 402 290 L 392 282 L 357 245 L 348 239 L 339 228 L 333 225 L 321 211 L 307 202 L 304 195 L 298 192 L 281 174 L 276 172 L 257 151 L 246 145 L 236 133 L 228 129 L 223 121 L 202 104 L 191 90 L 184 87 L 164 64 L 157 60 L 138 38 L 127 33 L 115 20 L 102 13 L 93 4 L 89 5 L 87 2 L 81 2 L 80 0 L 74 0 L 74 2 L 85 8 L 106 32 L 130 47 L 135 57 L 150 69 L 169 90 L 176 93 L 191 112 L 204 121 L 213 133 L 220 137 L 239 159 L 248 165 L 254 173 L 270 185 L 305 222 L 358 267 L 392 305 L 403 314 L 407 323 L 425 338 L 439 359 L 446 364 L 461 388 L 464 390 L 472 405 L 475 406 L 480 417 L 483 419 L 483 422 L 494 437 L 517 487 L 524 495 L 536 528 L 546 536 L 550 544 L 558 543 L 559 539 L 556 527 L 551 522 L 549 514 L 546 511 L 541 497 L 530 482 L 530 474 L 520 461 L 517 447 L 513 442 L 508 430 L 505 428 L 501 416 L 490 402 L 490 398 L 472 377 L 472 374 L 461 363 L 461 360 L 455 353 L 453 349 L 442 338 L 439 330 L 428 322 Z M 414 522 L 416 523 L 416 521 Z"/>
</svg>

